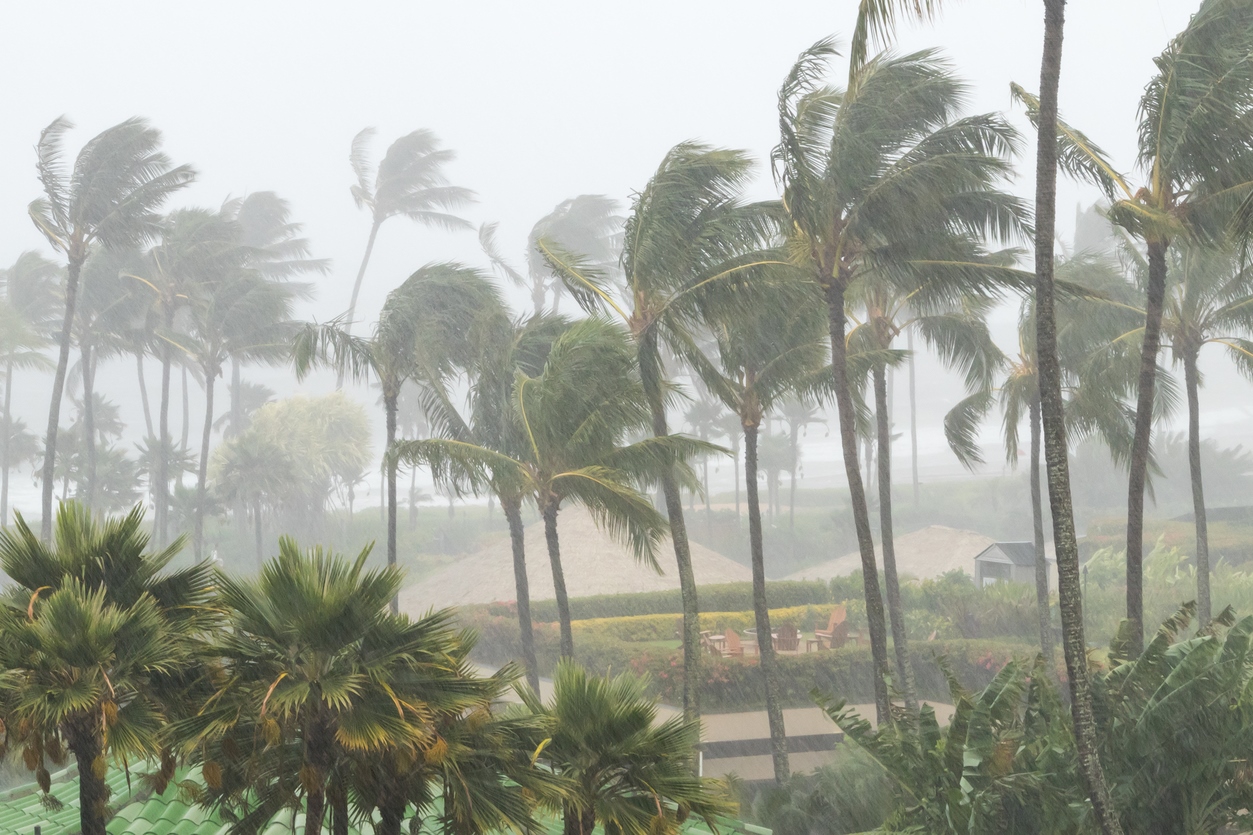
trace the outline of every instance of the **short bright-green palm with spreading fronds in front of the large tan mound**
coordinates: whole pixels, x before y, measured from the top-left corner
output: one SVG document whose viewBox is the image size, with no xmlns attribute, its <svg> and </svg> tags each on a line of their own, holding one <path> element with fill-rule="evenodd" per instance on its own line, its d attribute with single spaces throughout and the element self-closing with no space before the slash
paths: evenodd
<svg viewBox="0 0 1253 835">
<path fill-rule="evenodd" d="M 541 374 L 516 374 L 512 420 L 525 439 L 516 458 L 449 439 L 401 441 L 393 448 L 397 460 L 430 466 L 436 480 L 467 483 L 476 490 L 509 484 L 535 503 L 544 519 L 564 657 L 574 654 L 574 633 L 558 534 L 561 505 L 574 502 L 588 508 L 598 524 L 626 540 L 637 559 L 657 569 L 654 553 L 665 520 L 637 484 L 655 480 L 670 460 L 709 449 L 682 435 L 624 443 L 649 421 L 634 365 L 632 346 L 618 327 L 583 320 L 556 339 Z M 694 480 L 690 471 L 685 475 Z"/>
</svg>

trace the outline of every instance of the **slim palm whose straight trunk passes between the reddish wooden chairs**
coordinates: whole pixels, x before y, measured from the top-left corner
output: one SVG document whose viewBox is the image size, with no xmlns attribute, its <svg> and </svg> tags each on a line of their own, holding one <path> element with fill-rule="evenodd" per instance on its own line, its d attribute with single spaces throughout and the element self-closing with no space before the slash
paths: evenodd
<svg viewBox="0 0 1253 835">
<path fill-rule="evenodd" d="M 789 288 L 791 290 L 791 288 Z M 757 652 L 766 680 L 766 715 L 771 728 L 774 781 L 787 781 L 787 731 L 779 705 L 777 658 L 766 599 L 766 553 L 762 509 L 757 499 L 757 441 L 762 421 L 786 396 L 813 387 L 826 371 L 827 349 L 821 300 L 816 288 L 778 292 L 776 303 L 754 316 L 736 316 L 714 325 L 715 360 L 693 356 L 705 387 L 738 418 L 744 436 L 744 488 L 748 495 L 748 542 L 753 568 L 753 613 Z"/>
</svg>

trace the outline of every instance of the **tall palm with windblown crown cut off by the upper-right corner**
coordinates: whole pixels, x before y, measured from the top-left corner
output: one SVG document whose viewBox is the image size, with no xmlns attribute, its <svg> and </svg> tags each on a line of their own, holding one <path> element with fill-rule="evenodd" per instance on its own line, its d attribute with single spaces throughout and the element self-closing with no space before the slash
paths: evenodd
<svg viewBox="0 0 1253 835">
<path fill-rule="evenodd" d="M 1135 435 L 1128 478 L 1126 617 L 1131 646 L 1144 647 L 1144 488 L 1153 431 L 1162 313 L 1175 243 L 1224 237 L 1239 204 L 1253 198 L 1253 10 L 1239 0 L 1205 0 L 1154 59 L 1140 98 L 1135 188 L 1081 132 L 1059 124 L 1059 164 L 1099 186 L 1110 219 L 1144 242 L 1148 261 Z M 1032 117 L 1032 97 L 1015 88 Z"/>
</svg>

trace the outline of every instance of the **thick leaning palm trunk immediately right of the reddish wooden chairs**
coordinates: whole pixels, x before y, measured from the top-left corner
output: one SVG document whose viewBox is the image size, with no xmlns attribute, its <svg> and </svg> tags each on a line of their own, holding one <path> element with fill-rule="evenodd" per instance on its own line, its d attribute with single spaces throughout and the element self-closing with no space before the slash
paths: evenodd
<svg viewBox="0 0 1253 835">
<path fill-rule="evenodd" d="M 821 278 L 819 278 L 821 280 Z M 887 697 L 887 624 L 883 617 L 883 596 L 878 588 L 878 565 L 875 562 L 875 539 L 870 529 L 870 508 L 857 460 L 857 412 L 853 410 L 852 389 L 848 386 L 848 346 L 845 344 L 843 277 L 823 282 L 827 292 L 827 315 L 831 327 L 831 369 L 834 380 L 836 406 L 840 412 L 840 443 L 848 479 L 848 502 L 857 530 L 857 550 L 862 560 L 862 586 L 866 594 L 866 626 L 870 632 L 871 661 L 875 664 L 875 712 L 880 725 L 888 721 L 891 703 Z"/>
</svg>

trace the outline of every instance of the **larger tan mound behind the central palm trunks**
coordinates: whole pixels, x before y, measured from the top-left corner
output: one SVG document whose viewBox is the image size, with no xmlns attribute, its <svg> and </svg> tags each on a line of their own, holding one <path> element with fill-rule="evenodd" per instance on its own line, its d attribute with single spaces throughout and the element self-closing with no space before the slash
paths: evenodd
<svg viewBox="0 0 1253 835">
<path fill-rule="evenodd" d="M 561 510 L 558 518 L 561 538 L 561 567 L 570 597 L 659 592 L 679 587 L 674 568 L 674 547 L 667 537 L 657 550 L 664 574 L 635 562 L 630 548 L 620 545 L 596 528 L 579 507 Z M 739 583 L 752 579 L 747 565 L 692 543 L 692 568 L 697 583 Z M 551 601 L 553 569 L 549 567 L 544 523 L 526 527 L 526 577 L 533 601 Z M 502 539 L 476 554 L 410 586 L 400 594 L 401 608 L 420 614 L 431 607 L 462 603 L 494 603 L 517 597 L 514 587 L 514 555 L 509 539 Z"/>
</svg>

